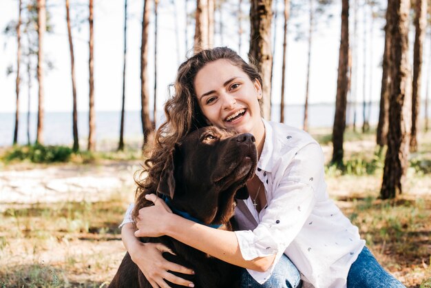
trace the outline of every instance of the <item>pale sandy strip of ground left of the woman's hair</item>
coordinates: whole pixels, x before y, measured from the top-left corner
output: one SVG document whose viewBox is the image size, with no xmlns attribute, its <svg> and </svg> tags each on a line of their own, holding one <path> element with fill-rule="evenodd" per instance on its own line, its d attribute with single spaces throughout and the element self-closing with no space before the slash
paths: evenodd
<svg viewBox="0 0 431 288">
<path fill-rule="evenodd" d="M 0 171 L 0 207 L 4 204 L 106 200 L 111 192 L 134 187 L 138 161 L 102 161 L 96 165 L 10 166 Z M 0 208 L 1 209 L 1 208 Z"/>
</svg>

